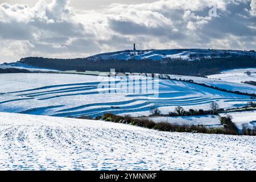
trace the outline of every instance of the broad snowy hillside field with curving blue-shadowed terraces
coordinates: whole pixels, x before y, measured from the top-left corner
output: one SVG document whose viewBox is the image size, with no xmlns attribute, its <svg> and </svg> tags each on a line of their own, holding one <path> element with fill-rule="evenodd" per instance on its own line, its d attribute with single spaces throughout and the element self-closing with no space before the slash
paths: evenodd
<svg viewBox="0 0 256 182">
<path fill-rule="evenodd" d="M 0 74 L 0 111 L 60 117 L 96 117 L 108 112 L 148 115 L 152 107 L 159 108 L 162 113 L 167 114 L 174 111 L 176 106 L 182 106 L 187 110 L 208 110 L 212 101 L 217 101 L 222 108 L 245 106 L 247 102 L 253 101 L 248 96 L 172 80 L 160 80 L 159 89 L 147 93 L 119 93 L 118 86 L 114 89 L 102 87 L 102 84 L 109 83 L 101 80 L 105 78 L 51 73 Z M 114 78 L 111 79 L 113 82 Z M 121 81 L 121 78 L 115 80 L 116 84 L 126 81 Z M 139 88 L 147 86 L 137 77 L 131 86 L 135 85 Z M 237 85 L 239 89 L 250 90 L 245 84 Z M 233 86 L 236 89 L 235 85 Z"/>
</svg>

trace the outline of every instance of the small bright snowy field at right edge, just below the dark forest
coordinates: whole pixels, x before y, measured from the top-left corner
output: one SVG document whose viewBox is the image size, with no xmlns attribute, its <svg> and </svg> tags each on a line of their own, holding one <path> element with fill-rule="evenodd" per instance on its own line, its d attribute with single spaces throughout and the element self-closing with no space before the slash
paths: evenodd
<svg viewBox="0 0 256 182">
<path fill-rule="evenodd" d="M 250 72 L 250 74 L 248 75 L 247 72 Z M 229 71 L 223 71 L 217 75 L 209 75 L 207 77 L 236 83 L 256 81 L 256 68 L 232 69 Z"/>
</svg>

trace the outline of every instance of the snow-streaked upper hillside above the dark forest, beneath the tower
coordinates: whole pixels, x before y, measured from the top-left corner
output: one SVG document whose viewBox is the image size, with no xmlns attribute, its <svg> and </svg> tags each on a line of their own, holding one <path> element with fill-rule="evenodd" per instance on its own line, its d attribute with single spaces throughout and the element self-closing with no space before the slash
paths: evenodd
<svg viewBox="0 0 256 182">
<path fill-rule="evenodd" d="M 241 56 L 241 55 L 251 55 L 256 57 L 255 52 L 249 51 L 235 51 L 235 50 L 218 50 L 218 49 L 151 49 L 151 50 L 125 50 L 117 52 L 107 52 L 101 53 L 89 57 L 89 59 L 117 59 L 117 60 L 129 60 L 129 59 L 152 59 L 152 60 L 162 60 L 163 58 L 180 58 L 189 59 L 189 55 L 195 55 L 193 59 L 199 57 L 230 57 L 230 56 Z"/>
</svg>

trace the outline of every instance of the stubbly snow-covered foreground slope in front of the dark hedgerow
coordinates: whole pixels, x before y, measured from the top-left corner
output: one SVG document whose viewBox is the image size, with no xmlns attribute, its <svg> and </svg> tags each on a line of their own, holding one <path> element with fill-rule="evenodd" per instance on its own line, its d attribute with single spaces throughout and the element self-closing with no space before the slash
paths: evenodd
<svg viewBox="0 0 256 182">
<path fill-rule="evenodd" d="M 0 169 L 255 170 L 255 139 L 0 113 Z"/>
</svg>

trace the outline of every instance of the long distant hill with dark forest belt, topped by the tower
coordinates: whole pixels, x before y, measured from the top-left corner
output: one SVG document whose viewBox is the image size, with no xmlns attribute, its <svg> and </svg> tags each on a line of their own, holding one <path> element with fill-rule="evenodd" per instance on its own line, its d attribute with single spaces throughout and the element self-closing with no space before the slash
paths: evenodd
<svg viewBox="0 0 256 182">
<path fill-rule="evenodd" d="M 158 61 L 156 61 L 158 60 Z M 217 49 L 163 49 L 125 50 L 101 53 L 76 59 L 54 59 L 45 57 L 24 57 L 16 63 L 0 65 L 0 73 L 27 71 L 100 71 L 162 73 L 187 76 L 207 76 L 225 69 L 256 67 L 255 51 L 234 51 Z M 20 71 L 26 72 L 26 71 Z"/>
</svg>

